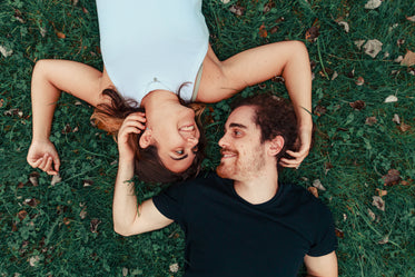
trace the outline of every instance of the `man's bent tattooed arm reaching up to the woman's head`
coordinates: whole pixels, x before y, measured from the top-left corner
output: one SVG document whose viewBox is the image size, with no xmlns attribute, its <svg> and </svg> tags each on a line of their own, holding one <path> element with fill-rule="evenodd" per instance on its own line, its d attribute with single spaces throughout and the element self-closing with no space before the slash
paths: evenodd
<svg viewBox="0 0 415 277">
<path fill-rule="evenodd" d="M 161 215 L 152 200 L 137 205 L 134 184 L 130 181 L 135 169 L 135 141 L 131 133 L 144 130 L 146 118 L 142 112 L 128 116 L 118 133 L 119 165 L 113 192 L 113 229 L 122 236 L 137 235 L 162 228 L 172 222 Z"/>
</svg>

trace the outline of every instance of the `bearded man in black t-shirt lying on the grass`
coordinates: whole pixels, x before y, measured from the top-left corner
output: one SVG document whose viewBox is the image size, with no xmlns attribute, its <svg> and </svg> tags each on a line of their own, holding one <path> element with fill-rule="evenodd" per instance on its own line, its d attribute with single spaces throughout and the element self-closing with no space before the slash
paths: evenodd
<svg viewBox="0 0 415 277">
<path fill-rule="evenodd" d="M 278 182 L 296 126 L 293 109 L 276 97 L 243 100 L 219 140 L 219 177 L 174 185 L 138 209 L 125 182 L 132 175 L 119 170 L 115 230 L 129 236 L 177 221 L 186 234 L 185 276 L 287 277 L 303 261 L 309 276 L 337 276 L 329 210 L 304 188 Z"/>
</svg>

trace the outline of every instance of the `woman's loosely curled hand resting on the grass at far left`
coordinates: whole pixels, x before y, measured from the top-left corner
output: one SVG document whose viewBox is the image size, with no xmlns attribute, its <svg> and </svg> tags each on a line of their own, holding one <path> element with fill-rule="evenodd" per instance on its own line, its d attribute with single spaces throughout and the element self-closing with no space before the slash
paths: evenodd
<svg viewBox="0 0 415 277">
<path fill-rule="evenodd" d="M 58 175 L 60 160 L 58 151 L 50 140 L 33 140 L 30 145 L 27 160 L 33 168 L 40 168 L 48 175 Z"/>
</svg>

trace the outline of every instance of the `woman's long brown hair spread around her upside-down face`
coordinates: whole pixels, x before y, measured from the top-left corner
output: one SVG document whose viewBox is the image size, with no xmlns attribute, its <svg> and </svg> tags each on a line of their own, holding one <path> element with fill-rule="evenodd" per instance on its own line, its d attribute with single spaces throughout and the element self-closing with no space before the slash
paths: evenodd
<svg viewBox="0 0 415 277">
<path fill-rule="evenodd" d="M 185 86 L 185 85 L 182 85 Z M 181 86 L 181 87 L 182 87 Z M 180 87 L 180 89 L 181 89 Z M 179 89 L 179 91 L 180 91 Z M 116 90 L 108 88 L 102 91 L 103 97 L 110 99 L 110 103 L 100 103 L 95 109 L 91 119 L 95 120 L 98 128 L 103 129 L 117 136 L 119 128 L 121 127 L 125 118 L 137 111 L 145 112 L 144 108 L 139 107 L 139 103 L 130 98 L 121 97 Z M 202 130 L 202 125 L 200 122 L 200 113 L 202 108 L 200 105 L 186 105 L 179 93 L 179 101 L 181 105 L 192 108 L 196 113 L 196 123 L 200 130 L 200 138 L 197 145 L 198 151 L 196 152 L 195 160 L 188 169 L 184 172 L 172 172 L 165 167 L 161 159 L 158 156 L 158 149 L 155 145 L 150 145 L 147 148 L 141 148 L 138 144 L 141 135 L 131 135 L 136 144 L 136 160 L 135 160 L 135 174 L 141 181 L 146 182 L 174 182 L 181 181 L 189 178 L 196 177 L 200 170 L 201 161 L 205 158 L 205 146 L 206 138 Z"/>
</svg>

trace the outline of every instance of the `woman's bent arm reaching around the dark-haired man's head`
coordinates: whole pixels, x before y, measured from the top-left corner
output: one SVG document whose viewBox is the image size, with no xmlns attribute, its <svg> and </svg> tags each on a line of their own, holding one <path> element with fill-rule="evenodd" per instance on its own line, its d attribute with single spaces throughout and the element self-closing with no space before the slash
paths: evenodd
<svg viewBox="0 0 415 277">
<path fill-rule="evenodd" d="M 296 159 L 281 159 L 286 167 L 297 167 L 308 155 L 312 144 L 312 71 L 308 51 L 300 41 L 281 41 L 253 48 L 219 61 L 211 48 L 204 61 L 197 100 L 217 102 L 244 88 L 283 76 L 298 120 L 302 142 Z"/>
</svg>

